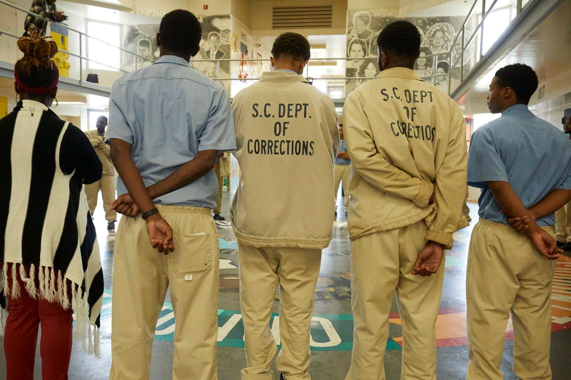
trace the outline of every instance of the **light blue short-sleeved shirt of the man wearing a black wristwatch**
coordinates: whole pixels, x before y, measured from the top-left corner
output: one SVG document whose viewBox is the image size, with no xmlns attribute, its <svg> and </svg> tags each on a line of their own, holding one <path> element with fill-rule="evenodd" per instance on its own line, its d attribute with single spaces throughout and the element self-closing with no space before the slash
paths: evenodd
<svg viewBox="0 0 571 380">
<path fill-rule="evenodd" d="M 224 88 L 183 58 L 160 57 L 154 64 L 115 80 L 109 100 L 107 139 L 132 144 L 131 157 L 145 186 L 193 160 L 200 150 L 234 150 L 234 120 Z M 119 194 L 127 192 L 123 181 Z M 216 206 L 214 171 L 154 199 L 161 205 Z"/>
</svg>

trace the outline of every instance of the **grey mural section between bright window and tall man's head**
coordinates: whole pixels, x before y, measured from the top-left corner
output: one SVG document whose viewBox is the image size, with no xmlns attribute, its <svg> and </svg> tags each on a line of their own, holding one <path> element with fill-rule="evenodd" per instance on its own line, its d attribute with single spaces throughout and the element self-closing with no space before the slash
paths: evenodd
<svg viewBox="0 0 571 380">
<path fill-rule="evenodd" d="M 156 33 L 159 24 L 139 24 L 124 26 L 123 48 L 140 57 L 123 52 L 123 70 L 132 71 L 149 66 L 159 58 L 159 48 L 156 46 Z"/>
</svg>

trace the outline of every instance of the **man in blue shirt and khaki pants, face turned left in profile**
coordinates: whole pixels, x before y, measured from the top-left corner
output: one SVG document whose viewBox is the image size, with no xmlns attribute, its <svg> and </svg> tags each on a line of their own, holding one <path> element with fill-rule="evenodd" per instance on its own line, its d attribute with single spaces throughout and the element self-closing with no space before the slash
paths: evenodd
<svg viewBox="0 0 571 380">
<path fill-rule="evenodd" d="M 502 116 L 471 139 L 468 184 L 482 193 L 468 251 L 469 380 L 503 378 L 510 312 L 514 373 L 552 378 L 550 295 L 553 260 L 562 252 L 553 213 L 571 197 L 571 142 L 529 111 L 537 85 L 536 73 L 524 64 L 498 70 L 488 108 Z"/>
</svg>

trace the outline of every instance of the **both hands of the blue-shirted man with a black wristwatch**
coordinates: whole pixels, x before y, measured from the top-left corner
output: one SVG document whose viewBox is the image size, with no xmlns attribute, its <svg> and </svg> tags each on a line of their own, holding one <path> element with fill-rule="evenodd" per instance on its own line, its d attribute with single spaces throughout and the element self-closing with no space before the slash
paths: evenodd
<svg viewBox="0 0 571 380">
<path fill-rule="evenodd" d="M 111 210 L 128 218 L 135 218 L 139 214 L 139 207 L 128 193 L 119 195 L 111 205 Z M 147 222 L 148 237 L 153 248 L 165 255 L 175 250 L 172 228 L 159 213 L 148 216 L 145 222 Z"/>
</svg>

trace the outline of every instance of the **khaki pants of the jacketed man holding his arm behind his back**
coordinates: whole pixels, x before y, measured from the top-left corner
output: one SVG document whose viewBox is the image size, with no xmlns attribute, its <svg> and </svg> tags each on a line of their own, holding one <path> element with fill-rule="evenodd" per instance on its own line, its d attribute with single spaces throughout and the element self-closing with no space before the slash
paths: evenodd
<svg viewBox="0 0 571 380">
<path fill-rule="evenodd" d="M 403 327 L 402 379 L 436 379 L 436 316 L 444 258 L 430 277 L 411 275 L 425 246 L 423 222 L 351 242 L 353 355 L 346 380 L 384 380 L 389 312 L 396 294 Z"/>
</svg>

